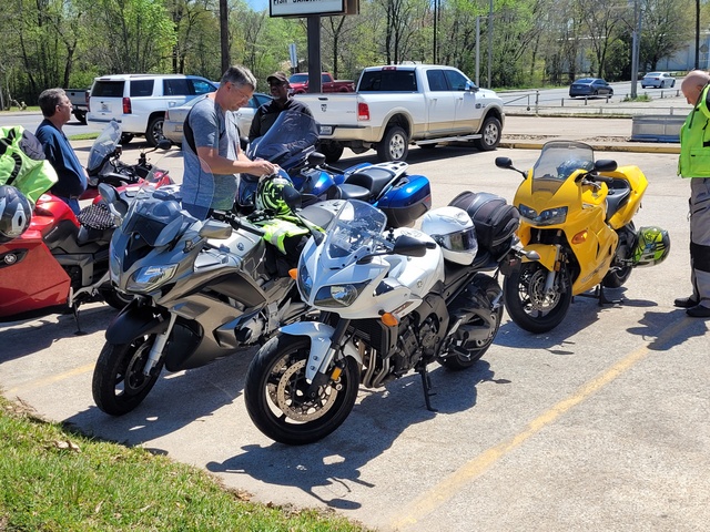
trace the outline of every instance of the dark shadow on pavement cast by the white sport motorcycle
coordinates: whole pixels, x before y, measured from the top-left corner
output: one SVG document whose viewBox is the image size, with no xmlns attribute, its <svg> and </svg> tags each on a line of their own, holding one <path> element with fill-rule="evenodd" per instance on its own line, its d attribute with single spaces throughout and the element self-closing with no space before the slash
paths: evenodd
<svg viewBox="0 0 710 532">
<path fill-rule="evenodd" d="M 345 422 L 325 439 L 308 446 L 268 447 L 247 444 L 242 453 L 223 462 L 210 462 L 215 473 L 247 474 L 268 484 L 288 485 L 308 493 L 329 508 L 361 508 L 348 499 L 351 485 L 375 488 L 361 478 L 361 468 L 387 451 L 410 426 L 433 421 L 476 406 L 477 385 L 494 381 L 494 372 L 485 360 L 466 371 L 438 368 L 430 374 L 437 395 L 432 397 L 432 412 L 425 408 L 418 375 L 408 375 L 376 391 L 361 389 L 359 400 Z M 433 434 L 436 434 L 434 431 Z M 448 442 L 436 436 L 427 441 L 413 441 L 413 454 L 426 457 L 436 446 Z M 418 446 L 424 446 L 418 449 Z M 326 498 L 318 493 L 332 493 Z"/>
</svg>

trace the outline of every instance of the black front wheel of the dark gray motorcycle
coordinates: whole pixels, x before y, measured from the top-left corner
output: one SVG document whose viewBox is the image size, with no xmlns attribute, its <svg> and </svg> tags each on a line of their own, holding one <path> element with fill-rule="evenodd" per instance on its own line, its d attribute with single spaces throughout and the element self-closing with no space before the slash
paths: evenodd
<svg viewBox="0 0 710 532">
<path fill-rule="evenodd" d="M 138 407 L 151 391 L 161 370 L 161 361 L 143 375 L 155 335 L 139 336 L 130 344 L 105 342 L 93 370 L 91 391 L 97 406 L 111 416 L 122 416 Z"/>
</svg>

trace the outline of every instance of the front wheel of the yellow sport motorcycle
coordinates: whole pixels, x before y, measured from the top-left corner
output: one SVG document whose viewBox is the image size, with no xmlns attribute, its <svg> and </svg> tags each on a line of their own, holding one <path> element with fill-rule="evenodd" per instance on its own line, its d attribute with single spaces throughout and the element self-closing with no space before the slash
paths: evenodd
<svg viewBox="0 0 710 532">
<path fill-rule="evenodd" d="M 547 275 L 547 268 L 540 263 L 523 263 L 520 270 L 508 275 L 503 285 L 510 319 L 530 332 L 546 332 L 557 327 L 572 301 L 568 269 L 560 268 L 550 294 L 545 294 Z"/>
</svg>

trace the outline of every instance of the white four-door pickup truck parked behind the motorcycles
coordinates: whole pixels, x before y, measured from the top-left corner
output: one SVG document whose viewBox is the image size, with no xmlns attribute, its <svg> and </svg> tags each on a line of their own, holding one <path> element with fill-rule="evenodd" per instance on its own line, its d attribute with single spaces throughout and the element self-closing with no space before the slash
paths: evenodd
<svg viewBox="0 0 710 532">
<path fill-rule="evenodd" d="M 459 70 L 436 64 L 369 66 L 354 93 L 298 94 L 320 124 L 320 151 L 331 163 L 344 147 L 377 150 L 381 161 L 404 161 L 409 144 L 473 141 L 478 150 L 500 143 L 505 113 L 494 91 Z"/>
</svg>

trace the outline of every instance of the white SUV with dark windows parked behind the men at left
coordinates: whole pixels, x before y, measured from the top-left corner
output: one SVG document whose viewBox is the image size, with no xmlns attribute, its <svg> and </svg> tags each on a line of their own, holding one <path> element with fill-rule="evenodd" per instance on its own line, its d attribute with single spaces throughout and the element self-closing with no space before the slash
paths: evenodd
<svg viewBox="0 0 710 532">
<path fill-rule="evenodd" d="M 145 135 L 151 146 L 164 139 L 165 111 L 200 94 L 216 91 L 214 82 L 183 74 L 118 74 L 93 80 L 87 122 L 115 120 L 123 133 L 121 142 Z"/>
</svg>

